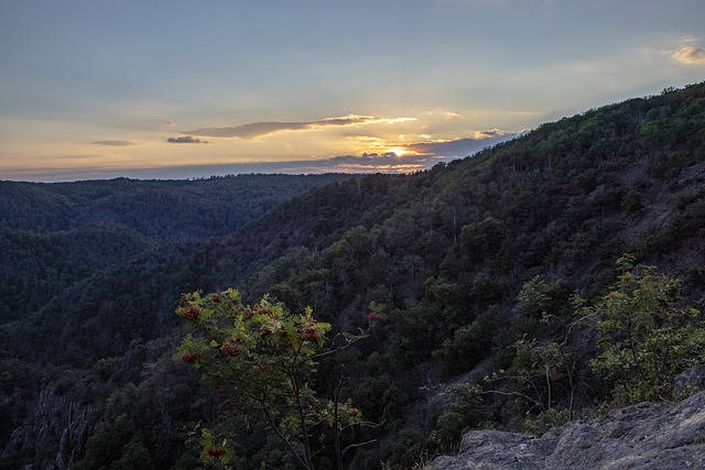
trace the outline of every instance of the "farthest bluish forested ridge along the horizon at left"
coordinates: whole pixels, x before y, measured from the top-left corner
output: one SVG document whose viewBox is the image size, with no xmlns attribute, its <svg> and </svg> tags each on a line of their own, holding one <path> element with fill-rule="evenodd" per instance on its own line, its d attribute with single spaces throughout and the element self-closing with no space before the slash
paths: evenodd
<svg viewBox="0 0 705 470">
<path fill-rule="evenodd" d="M 4 229 L 54 232 L 112 223 L 155 242 L 187 242 L 230 233 L 282 200 L 347 178 L 349 175 L 327 174 L 0 182 L 0 216 Z"/>
</svg>

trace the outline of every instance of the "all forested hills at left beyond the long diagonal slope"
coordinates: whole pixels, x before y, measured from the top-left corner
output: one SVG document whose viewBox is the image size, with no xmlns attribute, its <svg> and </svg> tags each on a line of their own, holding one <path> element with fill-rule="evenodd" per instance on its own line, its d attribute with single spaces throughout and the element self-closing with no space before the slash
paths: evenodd
<svg viewBox="0 0 705 470">
<path fill-rule="evenodd" d="M 344 177 L 0 182 L 0 321 L 25 317 L 76 282 L 152 248 L 231 233 L 281 201 Z"/>
</svg>

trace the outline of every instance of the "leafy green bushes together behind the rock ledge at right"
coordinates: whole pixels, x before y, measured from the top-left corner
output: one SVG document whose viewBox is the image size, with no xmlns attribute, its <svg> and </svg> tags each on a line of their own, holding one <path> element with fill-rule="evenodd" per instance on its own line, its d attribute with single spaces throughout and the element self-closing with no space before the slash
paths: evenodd
<svg viewBox="0 0 705 470">
<path fill-rule="evenodd" d="M 675 375 L 702 363 L 705 324 L 697 310 L 681 306 L 680 281 L 633 262 L 630 255 L 617 261 L 618 281 L 595 306 L 573 296 L 571 315 L 552 302 L 556 292 L 550 284 L 538 277 L 524 283 L 520 302 L 528 311 L 543 310 L 542 323 L 551 329 L 542 336 L 554 339 L 524 336 L 513 345 L 511 367 L 486 381 L 490 392 L 513 397 L 512 406 L 525 404 L 525 431 L 541 435 L 572 419 L 576 392 L 590 373 L 608 387 L 610 406 L 625 406 L 671 400 Z M 590 349 L 577 350 L 575 341 L 588 325 L 596 330 L 598 349 L 589 370 L 584 364 Z M 595 398 L 603 396 L 598 392 Z"/>
</svg>

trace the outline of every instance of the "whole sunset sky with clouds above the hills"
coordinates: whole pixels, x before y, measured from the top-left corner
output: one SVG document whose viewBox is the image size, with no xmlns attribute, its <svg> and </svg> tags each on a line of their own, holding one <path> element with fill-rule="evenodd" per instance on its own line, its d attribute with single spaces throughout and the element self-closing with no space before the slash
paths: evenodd
<svg viewBox="0 0 705 470">
<path fill-rule="evenodd" d="M 703 0 L 0 0 L 0 179 L 413 172 L 705 80 Z"/>
</svg>

